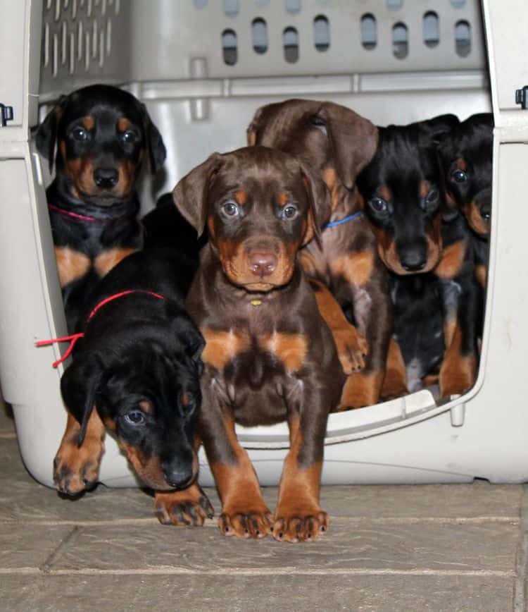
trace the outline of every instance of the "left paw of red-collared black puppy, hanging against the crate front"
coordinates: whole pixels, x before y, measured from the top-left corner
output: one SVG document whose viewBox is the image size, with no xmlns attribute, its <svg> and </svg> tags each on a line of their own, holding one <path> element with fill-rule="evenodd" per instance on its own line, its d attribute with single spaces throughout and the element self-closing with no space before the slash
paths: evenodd
<svg viewBox="0 0 528 612">
<path fill-rule="evenodd" d="M 76 440 L 63 440 L 54 459 L 57 490 L 73 497 L 93 489 L 99 480 L 103 451 L 104 444 L 100 439 L 87 437 L 81 446 L 77 446 Z"/>
</svg>

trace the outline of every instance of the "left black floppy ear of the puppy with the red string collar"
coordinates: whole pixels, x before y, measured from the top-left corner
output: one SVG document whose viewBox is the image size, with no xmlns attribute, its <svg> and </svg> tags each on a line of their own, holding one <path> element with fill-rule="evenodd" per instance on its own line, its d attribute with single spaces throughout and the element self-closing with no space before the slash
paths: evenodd
<svg viewBox="0 0 528 612">
<path fill-rule="evenodd" d="M 75 357 L 61 378 L 63 402 L 68 412 L 81 426 L 78 446 L 84 441 L 88 420 L 94 410 L 95 396 L 102 379 L 103 362 L 94 351 L 80 353 Z"/>
</svg>

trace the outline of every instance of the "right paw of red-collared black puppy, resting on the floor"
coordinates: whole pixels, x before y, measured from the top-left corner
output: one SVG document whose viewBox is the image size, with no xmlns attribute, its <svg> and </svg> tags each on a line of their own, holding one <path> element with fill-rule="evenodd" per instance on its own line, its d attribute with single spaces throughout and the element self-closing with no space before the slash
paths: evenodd
<svg viewBox="0 0 528 612">
<path fill-rule="evenodd" d="M 156 491 L 155 508 L 162 525 L 201 527 L 206 518 L 215 515 L 208 497 L 196 483 L 182 491 Z"/>
</svg>

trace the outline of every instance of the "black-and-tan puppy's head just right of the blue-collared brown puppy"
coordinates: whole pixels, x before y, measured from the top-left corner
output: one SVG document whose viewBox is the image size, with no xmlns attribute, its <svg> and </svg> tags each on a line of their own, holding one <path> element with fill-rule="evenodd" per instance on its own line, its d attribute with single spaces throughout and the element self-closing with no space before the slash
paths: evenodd
<svg viewBox="0 0 528 612">
<path fill-rule="evenodd" d="M 358 176 L 379 256 L 396 274 L 427 272 L 440 260 L 445 196 L 436 147 L 457 123 L 442 115 L 379 128 L 375 157 Z"/>
</svg>

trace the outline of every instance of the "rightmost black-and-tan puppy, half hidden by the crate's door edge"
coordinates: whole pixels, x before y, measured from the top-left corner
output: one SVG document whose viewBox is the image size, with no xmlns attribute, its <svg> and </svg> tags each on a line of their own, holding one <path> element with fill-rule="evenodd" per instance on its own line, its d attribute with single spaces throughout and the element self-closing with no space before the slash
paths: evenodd
<svg viewBox="0 0 528 612">
<path fill-rule="evenodd" d="M 439 146 L 448 207 L 459 209 L 472 229 L 475 274 L 486 287 L 491 221 L 491 158 L 494 116 L 472 115 L 444 137 Z"/>
</svg>

